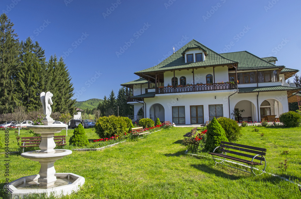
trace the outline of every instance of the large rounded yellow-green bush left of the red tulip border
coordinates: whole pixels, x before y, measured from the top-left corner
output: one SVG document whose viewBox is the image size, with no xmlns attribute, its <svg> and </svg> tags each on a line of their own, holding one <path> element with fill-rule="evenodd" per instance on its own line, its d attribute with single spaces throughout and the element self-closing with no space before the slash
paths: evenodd
<svg viewBox="0 0 301 199">
<path fill-rule="evenodd" d="M 122 117 L 116 117 L 115 115 L 100 117 L 95 123 L 95 133 L 100 138 L 109 138 L 114 135 L 120 137 L 127 130 L 126 121 Z"/>
</svg>

